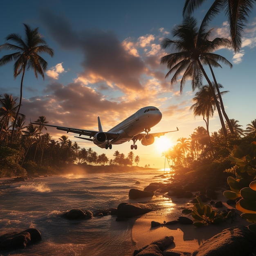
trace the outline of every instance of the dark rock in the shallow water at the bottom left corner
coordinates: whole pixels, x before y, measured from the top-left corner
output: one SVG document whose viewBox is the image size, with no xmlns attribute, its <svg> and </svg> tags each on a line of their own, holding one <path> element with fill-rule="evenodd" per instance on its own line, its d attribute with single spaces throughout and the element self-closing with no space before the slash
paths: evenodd
<svg viewBox="0 0 256 256">
<path fill-rule="evenodd" d="M 27 229 L 20 233 L 13 232 L 0 236 L 0 249 L 26 248 L 32 243 L 41 240 L 41 234 L 37 229 Z"/>
</svg>

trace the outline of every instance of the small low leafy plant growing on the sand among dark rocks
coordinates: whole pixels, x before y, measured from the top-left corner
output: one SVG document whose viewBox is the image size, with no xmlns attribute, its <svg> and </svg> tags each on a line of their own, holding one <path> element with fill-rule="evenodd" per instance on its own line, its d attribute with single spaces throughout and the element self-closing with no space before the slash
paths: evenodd
<svg viewBox="0 0 256 256">
<path fill-rule="evenodd" d="M 195 219 L 193 225 L 202 227 L 209 224 L 220 224 L 234 216 L 233 211 L 218 213 L 211 209 L 208 204 L 203 204 L 199 196 L 196 197 L 197 204 L 194 204 L 191 216 Z"/>
</svg>

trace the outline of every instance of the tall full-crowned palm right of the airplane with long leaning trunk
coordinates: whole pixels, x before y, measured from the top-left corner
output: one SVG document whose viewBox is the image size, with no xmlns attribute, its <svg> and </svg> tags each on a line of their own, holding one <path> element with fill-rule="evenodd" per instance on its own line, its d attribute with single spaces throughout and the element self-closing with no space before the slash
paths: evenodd
<svg viewBox="0 0 256 256">
<path fill-rule="evenodd" d="M 213 41 L 210 41 L 209 36 L 211 31 L 212 29 L 206 31 L 206 26 L 203 25 L 201 25 L 199 30 L 197 28 L 195 18 L 186 18 L 182 25 L 178 25 L 173 29 L 173 36 L 179 39 L 170 40 L 165 38 L 162 41 L 163 49 L 171 47 L 171 49 L 174 49 L 175 52 L 162 57 L 161 63 L 166 63 L 169 69 L 165 76 L 166 78 L 171 73 L 175 72 L 173 78 L 171 79 L 171 84 L 175 83 L 177 78 L 184 73 L 180 83 L 180 92 L 182 92 L 188 79 L 192 79 L 192 90 L 195 90 L 195 88 L 202 85 L 202 78 L 203 76 L 205 77 L 209 87 L 212 90 L 213 99 L 216 103 L 221 126 L 225 132 L 225 137 L 227 137 L 227 131 L 225 129 L 218 99 L 214 93 L 213 85 L 207 76 L 203 65 L 208 65 L 209 67 L 221 67 L 221 65 L 218 63 L 221 61 L 232 67 L 232 64 L 226 58 L 212 53 L 216 49 L 219 49 L 219 47 L 228 47 L 230 45 L 230 41 L 227 38 L 215 38 Z"/>
</svg>

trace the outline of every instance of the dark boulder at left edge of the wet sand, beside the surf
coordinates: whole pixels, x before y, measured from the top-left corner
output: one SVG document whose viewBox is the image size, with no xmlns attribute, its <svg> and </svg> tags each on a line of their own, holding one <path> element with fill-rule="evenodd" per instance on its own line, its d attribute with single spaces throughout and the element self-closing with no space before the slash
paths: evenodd
<svg viewBox="0 0 256 256">
<path fill-rule="evenodd" d="M 117 217 L 129 218 L 148 213 L 149 211 L 152 211 L 152 209 L 145 204 L 121 203 L 117 207 Z"/>
</svg>

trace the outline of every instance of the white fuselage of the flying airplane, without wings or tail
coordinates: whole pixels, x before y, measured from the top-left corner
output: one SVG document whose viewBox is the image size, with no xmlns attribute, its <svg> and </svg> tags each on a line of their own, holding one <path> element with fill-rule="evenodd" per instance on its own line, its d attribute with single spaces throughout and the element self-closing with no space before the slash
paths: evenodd
<svg viewBox="0 0 256 256">
<path fill-rule="evenodd" d="M 111 141 L 111 144 L 122 144 L 141 132 L 150 131 L 150 128 L 158 124 L 161 119 L 162 113 L 158 108 L 153 106 L 141 108 L 108 131 L 120 134 L 117 139 Z M 105 148 L 106 143 L 97 146 Z"/>
</svg>

